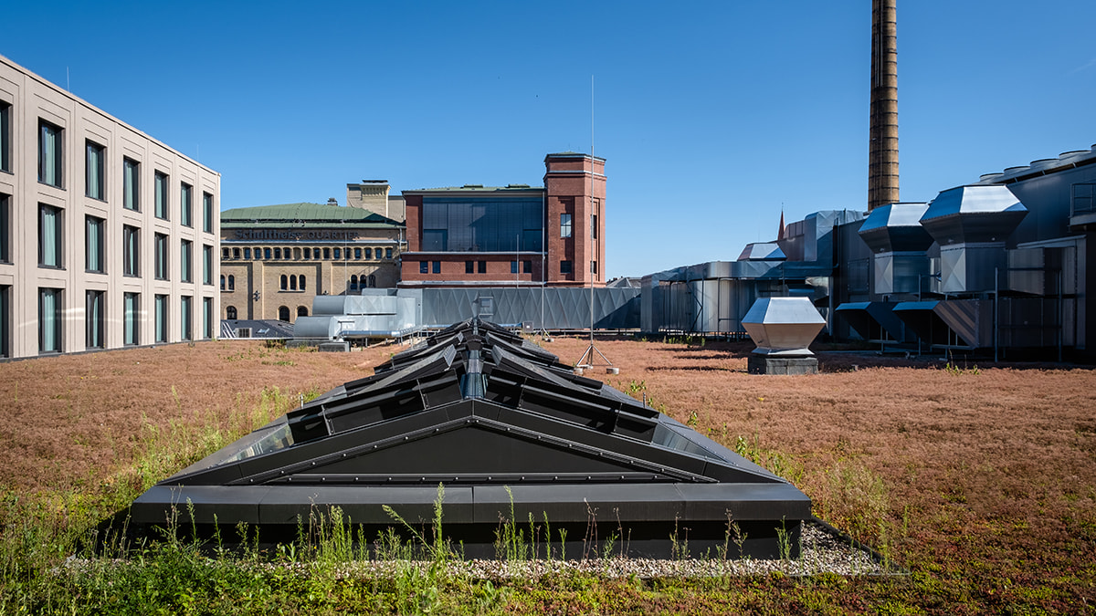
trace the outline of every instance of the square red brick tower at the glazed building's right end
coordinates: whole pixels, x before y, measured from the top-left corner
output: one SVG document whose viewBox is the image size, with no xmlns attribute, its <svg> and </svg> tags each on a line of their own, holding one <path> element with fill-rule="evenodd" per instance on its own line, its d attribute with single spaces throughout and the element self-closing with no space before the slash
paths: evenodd
<svg viewBox="0 0 1096 616">
<path fill-rule="evenodd" d="M 549 285 L 605 285 L 605 159 L 545 157 Z"/>
</svg>

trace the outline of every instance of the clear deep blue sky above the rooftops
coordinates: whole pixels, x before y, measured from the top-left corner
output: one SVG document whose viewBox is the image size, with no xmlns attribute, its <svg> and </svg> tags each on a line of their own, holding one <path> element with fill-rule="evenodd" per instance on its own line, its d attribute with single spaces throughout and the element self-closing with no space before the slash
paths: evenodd
<svg viewBox="0 0 1096 616">
<path fill-rule="evenodd" d="M 0 54 L 221 173 L 224 208 L 541 185 L 604 157 L 607 274 L 864 209 L 871 3 L 18 2 Z M 1096 144 L 1096 2 L 901 0 L 903 201 Z M 43 24 L 49 24 L 45 27 Z"/>
</svg>

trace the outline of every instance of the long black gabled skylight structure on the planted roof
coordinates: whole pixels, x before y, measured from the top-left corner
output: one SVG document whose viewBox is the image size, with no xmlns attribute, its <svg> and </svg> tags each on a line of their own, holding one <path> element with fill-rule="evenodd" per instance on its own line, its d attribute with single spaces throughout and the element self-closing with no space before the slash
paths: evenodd
<svg viewBox="0 0 1096 616">
<path fill-rule="evenodd" d="M 153 486 L 130 527 L 176 507 L 198 533 L 243 522 L 288 541 L 298 520 L 339 506 L 373 539 L 400 529 L 383 505 L 429 525 L 443 483 L 444 534 L 469 557 L 493 556 L 512 515 L 526 534 L 530 516 L 547 520 L 555 544 L 566 529 L 568 555 L 615 536 L 615 554 L 669 557 L 675 536 L 700 556 L 730 520 L 743 554 L 776 557 L 778 531 L 795 554 L 811 515 L 784 479 L 489 322 L 452 326 L 375 372 Z"/>
</svg>

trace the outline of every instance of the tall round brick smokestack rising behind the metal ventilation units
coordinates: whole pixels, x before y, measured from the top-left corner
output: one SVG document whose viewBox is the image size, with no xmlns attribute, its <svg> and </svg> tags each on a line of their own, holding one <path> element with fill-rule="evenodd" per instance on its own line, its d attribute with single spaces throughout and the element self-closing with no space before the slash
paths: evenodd
<svg viewBox="0 0 1096 616">
<path fill-rule="evenodd" d="M 898 203 L 898 0 L 871 0 L 868 210 Z"/>
</svg>

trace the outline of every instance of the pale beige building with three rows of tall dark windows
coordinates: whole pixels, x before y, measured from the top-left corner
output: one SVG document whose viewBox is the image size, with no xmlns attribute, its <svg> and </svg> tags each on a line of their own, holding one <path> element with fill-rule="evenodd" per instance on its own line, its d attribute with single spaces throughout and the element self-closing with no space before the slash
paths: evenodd
<svg viewBox="0 0 1096 616">
<path fill-rule="evenodd" d="M 0 356 L 209 339 L 220 175 L 0 56 Z"/>
</svg>

